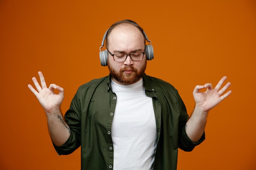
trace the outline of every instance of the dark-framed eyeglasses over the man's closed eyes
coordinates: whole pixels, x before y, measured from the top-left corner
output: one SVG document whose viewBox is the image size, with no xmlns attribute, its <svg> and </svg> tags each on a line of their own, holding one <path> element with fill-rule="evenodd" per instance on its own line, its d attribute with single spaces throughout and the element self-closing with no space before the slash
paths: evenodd
<svg viewBox="0 0 256 170">
<path fill-rule="evenodd" d="M 108 49 L 107 49 L 107 51 L 108 51 Z M 110 53 L 110 51 L 108 51 L 108 53 Z M 110 55 L 112 55 L 112 57 L 114 58 L 114 60 L 116 62 L 124 62 L 126 60 L 127 56 L 130 56 L 133 61 L 139 61 L 139 60 L 143 59 L 144 54 L 145 54 L 145 52 L 135 52 L 135 53 L 129 53 L 129 54 L 126 54 L 126 53 L 112 54 L 112 53 L 110 53 Z"/>
</svg>

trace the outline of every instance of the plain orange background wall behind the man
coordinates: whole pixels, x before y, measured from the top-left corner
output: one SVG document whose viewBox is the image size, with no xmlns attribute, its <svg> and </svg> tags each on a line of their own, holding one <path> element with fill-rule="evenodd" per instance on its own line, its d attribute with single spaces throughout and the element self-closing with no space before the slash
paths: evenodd
<svg viewBox="0 0 256 170">
<path fill-rule="evenodd" d="M 146 73 L 173 84 L 189 113 L 195 85 L 226 75 L 231 96 L 211 110 L 206 140 L 180 150 L 178 170 L 255 170 L 256 2 L 254 0 L 1 0 L 1 170 L 79 170 L 80 149 L 57 156 L 46 117 L 29 91 L 38 71 L 65 89 L 108 75 L 99 46 L 108 27 L 140 24 L 154 47 Z"/>
</svg>

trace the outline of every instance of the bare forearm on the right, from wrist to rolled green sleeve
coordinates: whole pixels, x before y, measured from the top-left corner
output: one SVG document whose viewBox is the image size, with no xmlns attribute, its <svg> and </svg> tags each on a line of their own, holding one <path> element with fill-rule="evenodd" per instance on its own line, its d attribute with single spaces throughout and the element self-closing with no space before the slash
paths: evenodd
<svg viewBox="0 0 256 170">
<path fill-rule="evenodd" d="M 195 109 L 186 123 L 186 134 L 193 141 L 197 142 L 204 134 L 208 112 L 202 111 L 198 106 Z"/>
</svg>

